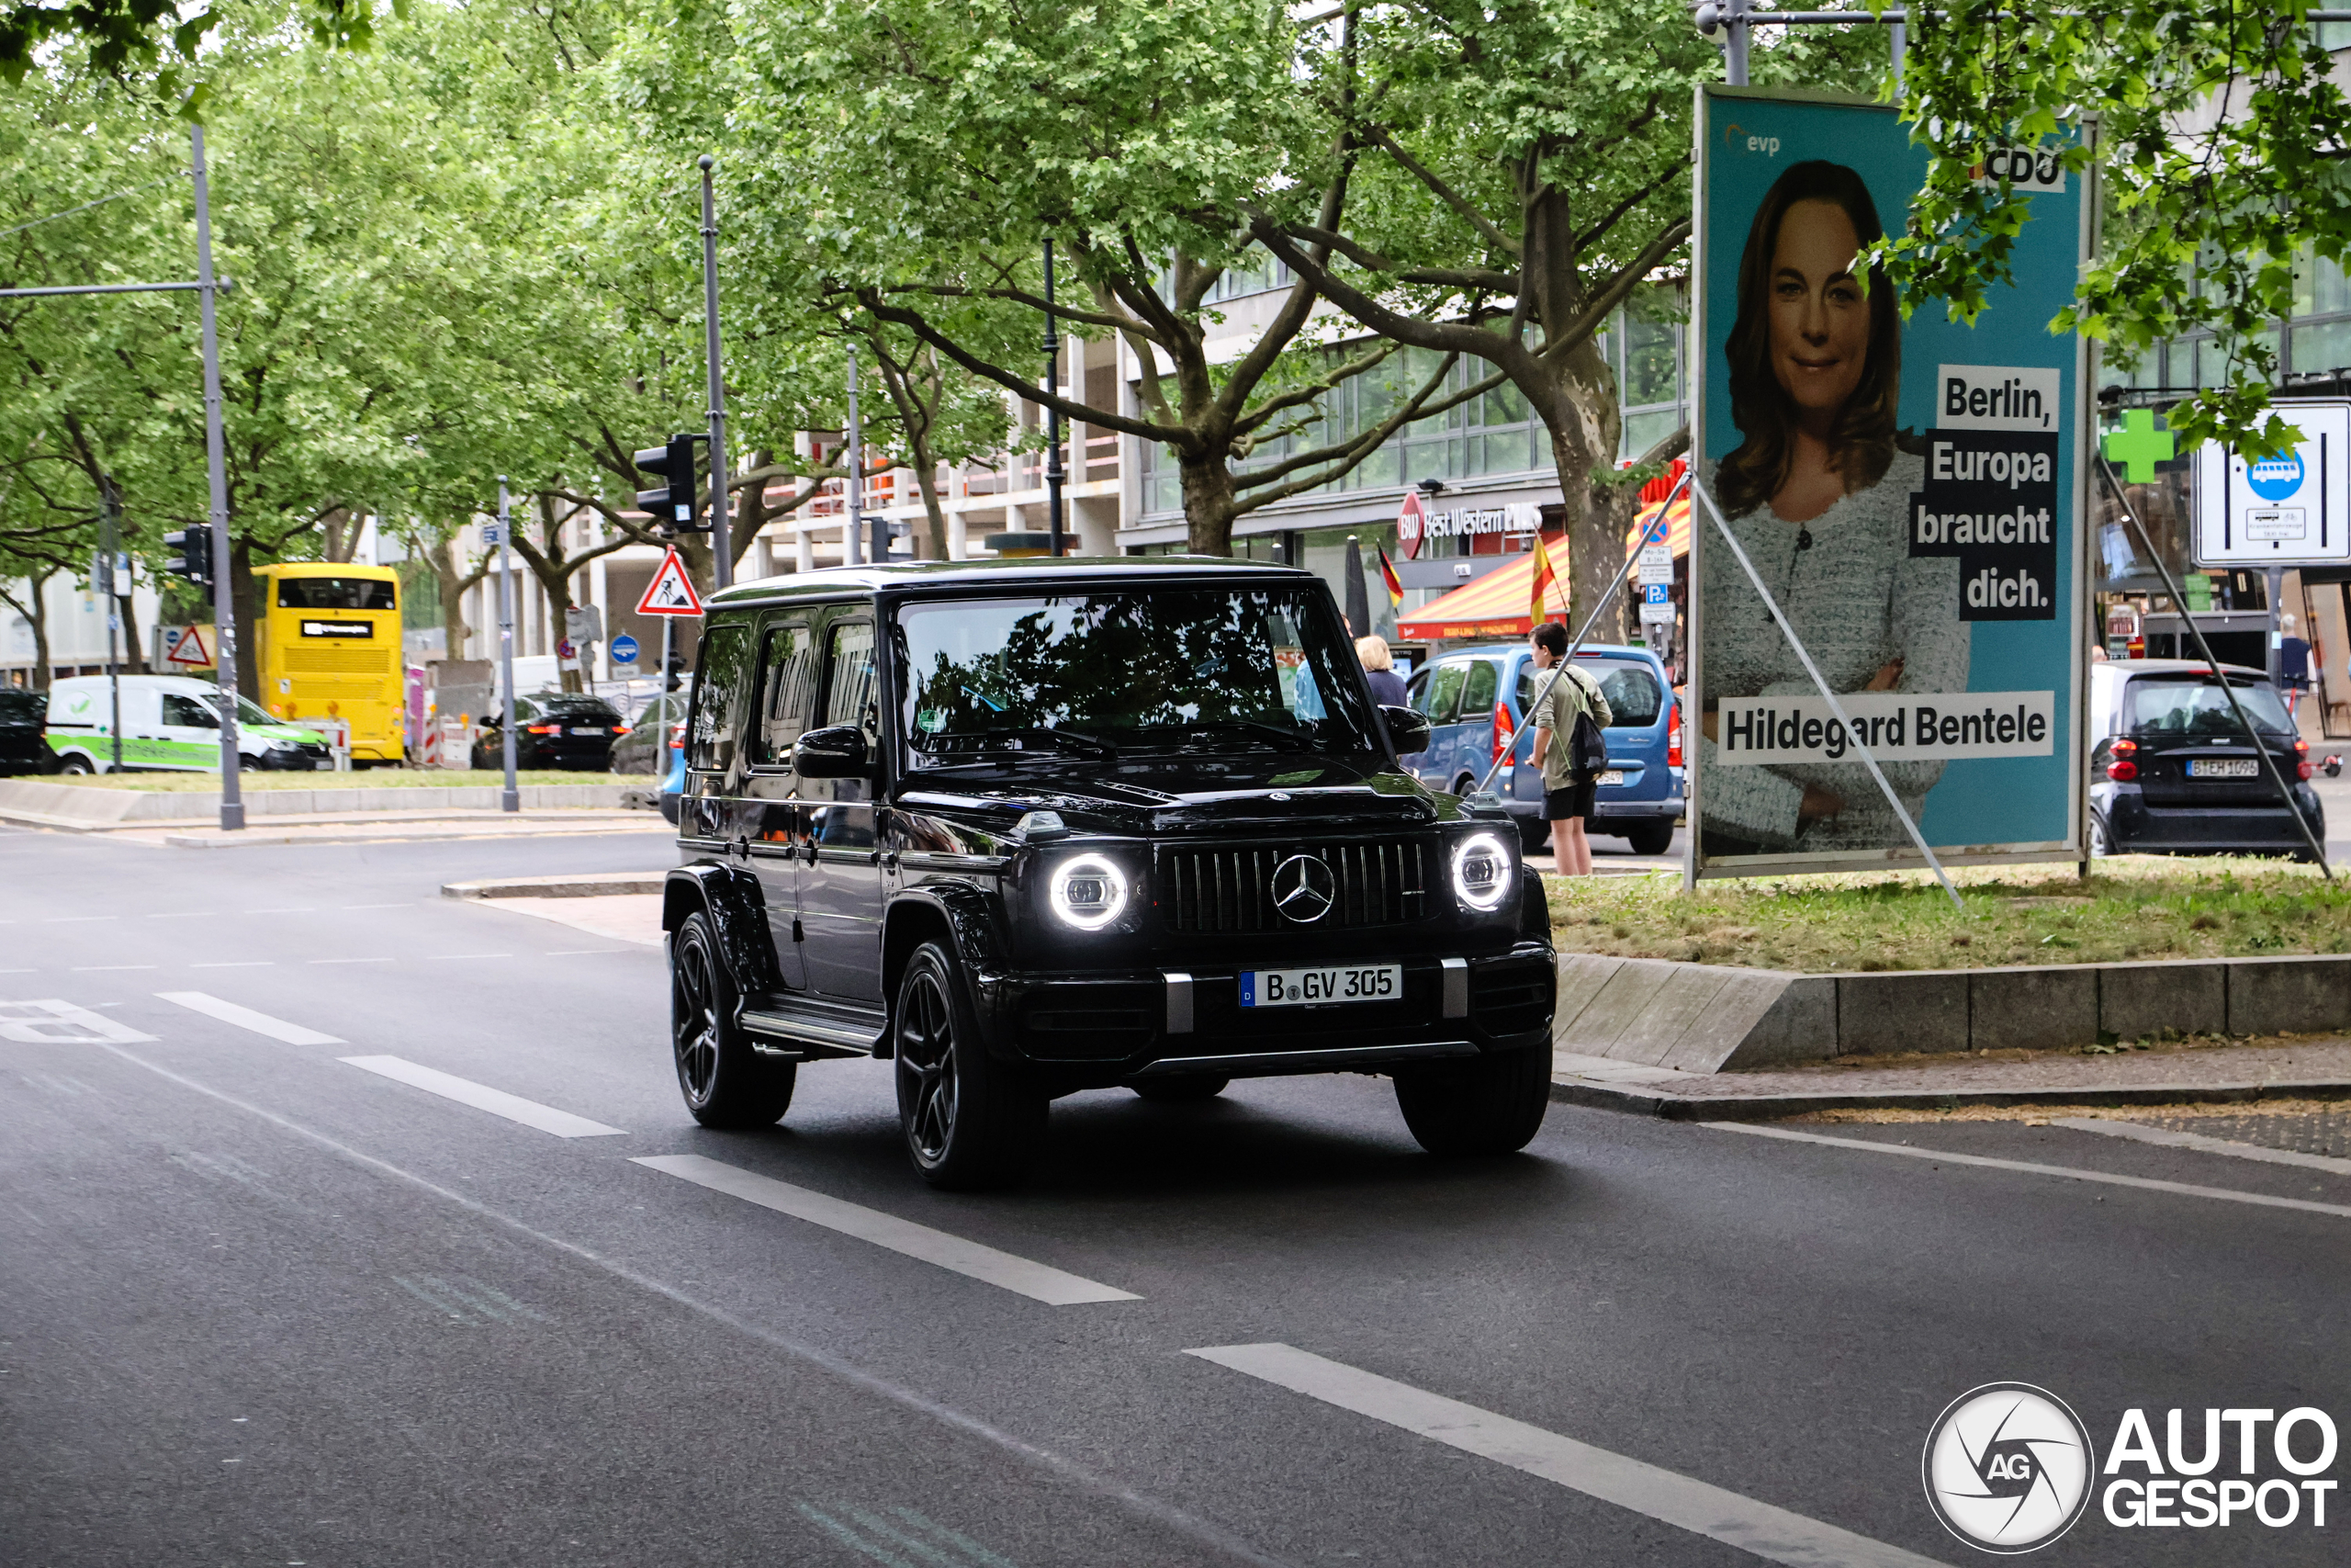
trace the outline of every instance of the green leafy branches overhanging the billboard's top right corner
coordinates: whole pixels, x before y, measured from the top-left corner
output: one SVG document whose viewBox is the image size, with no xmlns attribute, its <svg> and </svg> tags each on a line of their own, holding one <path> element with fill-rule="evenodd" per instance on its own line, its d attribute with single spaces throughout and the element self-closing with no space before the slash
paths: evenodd
<svg viewBox="0 0 2351 1568">
<path fill-rule="evenodd" d="M 2172 430 L 2252 454 L 2285 447 L 2269 388 L 2295 263 L 2351 249 L 2351 99 L 2309 12 L 2309 0 L 2088 0 L 2020 26 L 1991 0 L 1956 0 L 1921 14 L 1902 108 L 1933 162 L 1909 230 L 1883 247 L 1904 306 L 1944 301 L 1975 320 L 2031 221 L 2027 190 L 1980 179 L 1984 153 L 2057 150 L 2076 179 L 2097 169 L 2109 219 L 2050 329 L 2123 360 L 2210 331 L 2226 376 L 2175 407 Z M 2085 120 L 2090 146 L 2076 139 Z"/>
</svg>

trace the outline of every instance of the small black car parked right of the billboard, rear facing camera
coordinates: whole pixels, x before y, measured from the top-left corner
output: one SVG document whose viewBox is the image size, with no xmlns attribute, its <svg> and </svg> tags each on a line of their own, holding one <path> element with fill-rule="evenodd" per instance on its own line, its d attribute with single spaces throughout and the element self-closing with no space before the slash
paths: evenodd
<svg viewBox="0 0 2351 1568">
<path fill-rule="evenodd" d="M 2222 665 L 2323 844 L 2309 743 L 2259 670 Z M 2295 856 L 2309 844 L 2212 668 L 2116 658 L 2090 668 L 2090 842 L 2099 853 Z"/>
</svg>

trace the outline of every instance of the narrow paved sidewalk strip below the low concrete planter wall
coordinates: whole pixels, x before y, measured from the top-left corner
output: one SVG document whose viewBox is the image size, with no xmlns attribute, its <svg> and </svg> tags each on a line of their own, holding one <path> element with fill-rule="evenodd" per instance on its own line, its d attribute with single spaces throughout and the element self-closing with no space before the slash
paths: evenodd
<svg viewBox="0 0 2351 1568">
<path fill-rule="evenodd" d="M 2351 1098 L 2351 1039 L 2271 1034 L 2114 1056 L 1850 1056 L 1773 1072 L 1674 1072 L 1552 1053 L 1552 1098 L 1693 1121 L 1763 1121 L 1834 1110 L 1963 1105 L 2168 1105 Z"/>
</svg>

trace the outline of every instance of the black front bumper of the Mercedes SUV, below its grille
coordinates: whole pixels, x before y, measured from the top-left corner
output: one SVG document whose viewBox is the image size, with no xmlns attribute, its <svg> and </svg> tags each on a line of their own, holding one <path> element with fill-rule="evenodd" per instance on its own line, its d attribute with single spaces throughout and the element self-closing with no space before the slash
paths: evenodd
<svg viewBox="0 0 2351 1568">
<path fill-rule="evenodd" d="M 1481 957 L 1366 952 L 1399 964 L 1396 1001 L 1244 1009 L 1239 969 L 973 976 L 994 1056 L 1060 1086 L 1145 1077 L 1378 1072 L 1394 1063 L 1549 1044 L 1556 964 L 1547 943 Z"/>
</svg>

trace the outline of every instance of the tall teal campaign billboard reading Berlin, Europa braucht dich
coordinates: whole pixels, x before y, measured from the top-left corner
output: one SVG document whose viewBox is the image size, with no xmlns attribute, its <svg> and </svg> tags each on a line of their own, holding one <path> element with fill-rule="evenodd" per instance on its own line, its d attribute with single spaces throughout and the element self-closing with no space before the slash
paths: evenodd
<svg viewBox="0 0 2351 1568">
<path fill-rule="evenodd" d="M 1991 148 L 1984 179 L 2001 172 L 2031 202 L 2015 282 L 1972 324 L 1940 301 L 1904 320 L 1855 261 L 1925 181 L 1897 113 L 1700 92 L 1700 877 L 1918 865 L 1904 813 L 1944 863 L 2081 853 L 2085 353 L 2050 320 L 2088 244 L 2088 181 L 2052 148 Z"/>
</svg>

